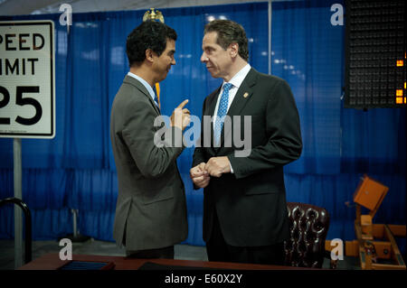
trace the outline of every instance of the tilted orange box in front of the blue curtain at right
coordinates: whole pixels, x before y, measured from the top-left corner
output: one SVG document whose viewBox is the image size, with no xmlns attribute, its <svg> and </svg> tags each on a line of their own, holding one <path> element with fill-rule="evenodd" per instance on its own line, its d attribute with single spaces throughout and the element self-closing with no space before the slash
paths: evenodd
<svg viewBox="0 0 407 288">
<path fill-rule="evenodd" d="M 389 188 L 381 182 L 375 181 L 364 174 L 364 178 L 354 193 L 354 201 L 363 207 L 373 210 L 379 208 Z M 371 215 L 372 216 L 372 215 Z M 373 217 L 373 216 L 372 216 Z"/>
</svg>

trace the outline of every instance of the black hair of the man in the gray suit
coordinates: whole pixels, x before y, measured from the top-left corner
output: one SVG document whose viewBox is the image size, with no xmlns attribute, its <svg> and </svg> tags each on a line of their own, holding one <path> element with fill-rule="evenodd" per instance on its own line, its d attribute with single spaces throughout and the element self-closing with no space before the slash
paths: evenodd
<svg viewBox="0 0 407 288">
<path fill-rule="evenodd" d="M 166 50 L 166 41 L 176 41 L 175 30 L 165 23 L 146 21 L 128 34 L 126 53 L 128 64 L 141 63 L 146 59 L 147 49 L 155 51 L 158 56 Z"/>
</svg>

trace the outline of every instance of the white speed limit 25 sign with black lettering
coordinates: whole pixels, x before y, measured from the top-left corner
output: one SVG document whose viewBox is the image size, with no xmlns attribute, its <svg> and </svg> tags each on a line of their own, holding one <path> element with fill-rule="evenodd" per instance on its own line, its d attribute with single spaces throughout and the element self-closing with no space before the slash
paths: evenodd
<svg viewBox="0 0 407 288">
<path fill-rule="evenodd" d="M 55 136 L 52 21 L 0 22 L 0 137 Z"/>
</svg>

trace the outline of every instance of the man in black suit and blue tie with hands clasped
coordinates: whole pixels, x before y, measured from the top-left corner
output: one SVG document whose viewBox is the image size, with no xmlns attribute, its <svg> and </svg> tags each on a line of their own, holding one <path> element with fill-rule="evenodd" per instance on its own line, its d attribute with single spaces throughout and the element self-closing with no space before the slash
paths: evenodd
<svg viewBox="0 0 407 288">
<path fill-rule="evenodd" d="M 282 265 L 283 242 L 289 237 L 283 165 L 298 159 L 302 150 L 295 100 L 285 80 L 248 64 L 240 24 L 208 23 L 203 51 L 207 70 L 223 79 L 204 100 L 203 117 L 214 119 L 209 134 L 203 124 L 190 171 L 194 188 L 204 188 L 208 259 Z M 237 143 L 247 135 L 236 131 L 239 125 L 251 132 L 245 139 L 250 147 Z M 209 145 L 208 136 L 213 139 Z"/>
</svg>

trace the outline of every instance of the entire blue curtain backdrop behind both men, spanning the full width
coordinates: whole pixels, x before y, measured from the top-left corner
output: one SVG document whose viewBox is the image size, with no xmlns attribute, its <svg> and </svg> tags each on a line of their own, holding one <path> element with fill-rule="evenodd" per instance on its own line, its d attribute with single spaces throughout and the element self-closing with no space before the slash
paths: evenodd
<svg viewBox="0 0 407 288">
<path fill-rule="evenodd" d="M 160 9 L 178 33 L 176 65 L 161 82 L 164 115 L 185 98 L 196 116 L 204 98 L 221 83 L 200 62 L 204 24 L 213 18 L 241 23 L 249 38 L 250 63 L 289 82 L 297 101 L 304 149 L 285 168 L 289 201 L 327 208 L 328 238 L 354 239 L 355 208 L 345 206 L 363 173 L 390 190 L 376 223 L 405 225 L 405 110 L 345 109 L 345 26 L 333 26 L 330 6 L 340 1 L 295 1 Z M 72 232 L 70 209 L 79 209 L 80 233 L 113 241 L 118 182 L 109 141 L 109 111 L 126 73 L 125 42 L 145 11 L 73 14 L 70 33 L 60 14 L 0 17 L 51 19 L 55 24 L 56 136 L 23 139 L 23 197 L 33 213 L 33 238 Z M 0 84 L 1 85 L 1 84 Z M 178 158 L 185 182 L 189 234 L 201 246 L 203 193 L 189 179 L 194 149 Z M 13 141 L 0 139 L 0 199 L 13 196 Z M 0 238 L 14 237 L 11 207 L 0 209 Z"/>
</svg>

